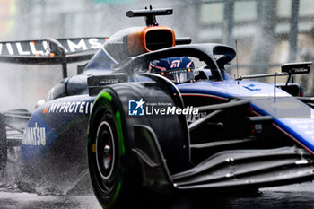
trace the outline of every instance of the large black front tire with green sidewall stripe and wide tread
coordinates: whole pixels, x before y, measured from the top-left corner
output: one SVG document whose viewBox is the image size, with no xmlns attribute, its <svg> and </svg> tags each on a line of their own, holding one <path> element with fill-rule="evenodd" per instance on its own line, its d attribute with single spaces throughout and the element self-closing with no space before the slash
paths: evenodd
<svg viewBox="0 0 314 209">
<path fill-rule="evenodd" d="M 158 136 L 170 172 L 185 170 L 188 165 L 186 133 L 179 117 L 156 121 L 128 116 L 132 98 L 170 96 L 160 87 L 141 83 L 118 83 L 100 92 L 92 107 L 88 131 L 88 163 L 95 196 L 103 208 L 165 208 L 170 196 L 156 194 L 142 187 L 142 170 L 135 152 L 134 125 L 151 126 Z M 158 121 L 158 122 L 157 122 Z M 184 121 L 186 123 L 186 121 Z M 156 196 L 158 196 L 156 198 Z M 154 198 L 153 198 L 154 197 Z M 154 200 L 158 199 L 156 202 Z"/>
</svg>

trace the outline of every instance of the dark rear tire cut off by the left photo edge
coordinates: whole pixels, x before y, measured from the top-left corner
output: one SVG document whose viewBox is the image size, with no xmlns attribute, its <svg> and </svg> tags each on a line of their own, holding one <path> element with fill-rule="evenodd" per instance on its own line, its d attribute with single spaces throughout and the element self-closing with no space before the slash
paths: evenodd
<svg viewBox="0 0 314 209">
<path fill-rule="evenodd" d="M 7 141 L 4 116 L 0 115 L 0 179 L 4 177 L 7 162 Z"/>
</svg>

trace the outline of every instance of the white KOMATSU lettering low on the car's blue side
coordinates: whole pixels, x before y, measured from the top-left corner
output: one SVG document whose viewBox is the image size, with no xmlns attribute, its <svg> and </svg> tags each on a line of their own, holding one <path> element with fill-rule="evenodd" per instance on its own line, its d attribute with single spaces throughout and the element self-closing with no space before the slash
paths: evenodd
<svg viewBox="0 0 314 209">
<path fill-rule="evenodd" d="M 26 127 L 22 137 L 22 144 L 45 146 L 46 128 L 38 126 L 37 122 L 35 122 L 35 126 Z"/>
</svg>

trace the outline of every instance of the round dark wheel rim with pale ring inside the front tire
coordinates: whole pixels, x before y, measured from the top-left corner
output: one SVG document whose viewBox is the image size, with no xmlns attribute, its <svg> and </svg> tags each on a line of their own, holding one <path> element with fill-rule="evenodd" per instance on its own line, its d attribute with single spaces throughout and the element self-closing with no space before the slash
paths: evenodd
<svg viewBox="0 0 314 209">
<path fill-rule="evenodd" d="M 115 164 L 115 142 L 111 127 L 106 121 L 101 122 L 98 127 L 95 148 L 98 173 L 104 183 L 109 183 Z"/>
</svg>

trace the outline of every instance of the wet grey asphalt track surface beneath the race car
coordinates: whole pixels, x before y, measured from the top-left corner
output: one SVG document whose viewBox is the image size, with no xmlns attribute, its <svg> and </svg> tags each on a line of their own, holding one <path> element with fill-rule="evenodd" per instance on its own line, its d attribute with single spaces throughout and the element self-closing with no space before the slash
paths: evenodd
<svg viewBox="0 0 314 209">
<path fill-rule="evenodd" d="M 100 209 L 96 198 L 86 196 L 38 196 L 14 189 L 0 189 L 1 209 Z M 175 200 L 171 209 L 204 208 L 314 208 L 314 183 L 262 189 L 259 193 L 237 196 L 208 196 Z"/>
</svg>

